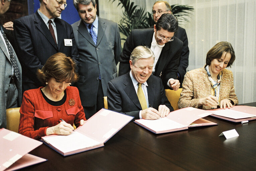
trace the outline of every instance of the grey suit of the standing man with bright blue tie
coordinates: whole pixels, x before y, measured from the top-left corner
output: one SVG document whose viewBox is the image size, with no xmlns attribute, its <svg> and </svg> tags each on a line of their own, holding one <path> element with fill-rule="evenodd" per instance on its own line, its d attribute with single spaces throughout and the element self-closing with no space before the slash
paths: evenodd
<svg viewBox="0 0 256 171">
<path fill-rule="evenodd" d="M 97 102 L 99 74 L 104 96 L 107 82 L 117 77 L 116 64 L 121 53 L 118 24 L 99 18 L 97 45 L 81 20 L 72 24 L 79 53 L 80 79 L 76 83 L 82 106 L 94 106 Z"/>
</svg>

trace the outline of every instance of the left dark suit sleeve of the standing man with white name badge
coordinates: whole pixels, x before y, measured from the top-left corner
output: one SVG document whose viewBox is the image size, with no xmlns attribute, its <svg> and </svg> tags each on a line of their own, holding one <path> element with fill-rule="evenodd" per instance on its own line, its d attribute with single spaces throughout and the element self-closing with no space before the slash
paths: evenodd
<svg viewBox="0 0 256 171">
<path fill-rule="evenodd" d="M 31 79 L 38 82 L 36 77 L 37 68 L 41 69 L 43 65 L 40 63 L 38 57 L 34 55 L 30 32 L 20 20 L 14 20 L 13 29 L 19 61 L 23 67 L 31 71 Z"/>
</svg>

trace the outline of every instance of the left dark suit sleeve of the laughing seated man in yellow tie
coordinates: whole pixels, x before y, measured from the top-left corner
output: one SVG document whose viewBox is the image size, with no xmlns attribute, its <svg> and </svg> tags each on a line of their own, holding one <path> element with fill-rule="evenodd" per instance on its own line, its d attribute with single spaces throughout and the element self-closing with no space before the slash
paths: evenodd
<svg viewBox="0 0 256 171">
<path fill-rule="evenodd" d="M 134 119 L 140 119 L 140 111 L 122 111 L 122 99 L 120 93 L 111 81 L 107 83 L 107 107 L 109 110 L 133 116 Z"/>
</svg>

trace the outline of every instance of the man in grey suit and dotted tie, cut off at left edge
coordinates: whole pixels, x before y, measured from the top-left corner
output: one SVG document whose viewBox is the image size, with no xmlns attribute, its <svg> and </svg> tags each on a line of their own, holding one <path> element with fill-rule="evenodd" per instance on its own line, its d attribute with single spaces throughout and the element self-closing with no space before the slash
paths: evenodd
<svg viewBox="0 0 256 171">
<path fill-rule="evenodd" d="M 9 0 L 1 0 L 0 15 L 10 6 Z M 21 66 L 17 55 L 0 25 L 0 129 L 6 128 L 6 109 L 21 105 Z"/>
</svg>

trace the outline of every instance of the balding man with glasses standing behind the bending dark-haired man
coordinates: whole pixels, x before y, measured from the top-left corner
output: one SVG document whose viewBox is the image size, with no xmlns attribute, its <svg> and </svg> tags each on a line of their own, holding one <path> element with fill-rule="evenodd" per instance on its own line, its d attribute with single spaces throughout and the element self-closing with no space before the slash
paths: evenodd
<svg viewBox="0 0 256 171">
<path fill-rule="evenodd" d="M 152 8 L 154 21 L 157 22 L 158 19 L 161 17 L 161 15 L 164 13 L 172 14 L 172 8 L 170 4 L 167 1 L 156 1 Z M 154 26 L 152 26 L 152 28 L 153 27 Z M 179 65 L 178 65 L 178 80 L 180 81 L 180 87 L 182 87 L 182 82 L 188 66 L 188 55 L 189 55 L 186 30 L 179 26 L 178 30 L 174 33 L 174 36 L 183 42 Z"/>
</svg>

